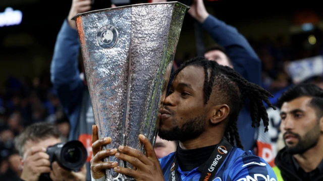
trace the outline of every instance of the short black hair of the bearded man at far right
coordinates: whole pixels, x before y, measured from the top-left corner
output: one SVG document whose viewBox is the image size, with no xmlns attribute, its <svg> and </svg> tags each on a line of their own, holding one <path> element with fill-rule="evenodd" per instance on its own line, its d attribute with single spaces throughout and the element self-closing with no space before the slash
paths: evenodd
<svg viewBox="0 0 323 181">
<path fill-rule="evenodd" d="M 318 118 L 323 116 L 323 90 L 314 84 L 298 84 L 290 87 L 278 98 L 277 106 L 281 108 L 284 102 L 299 97 L 312 97 L 309 105 L 315 109 Z"/>
</svg>

